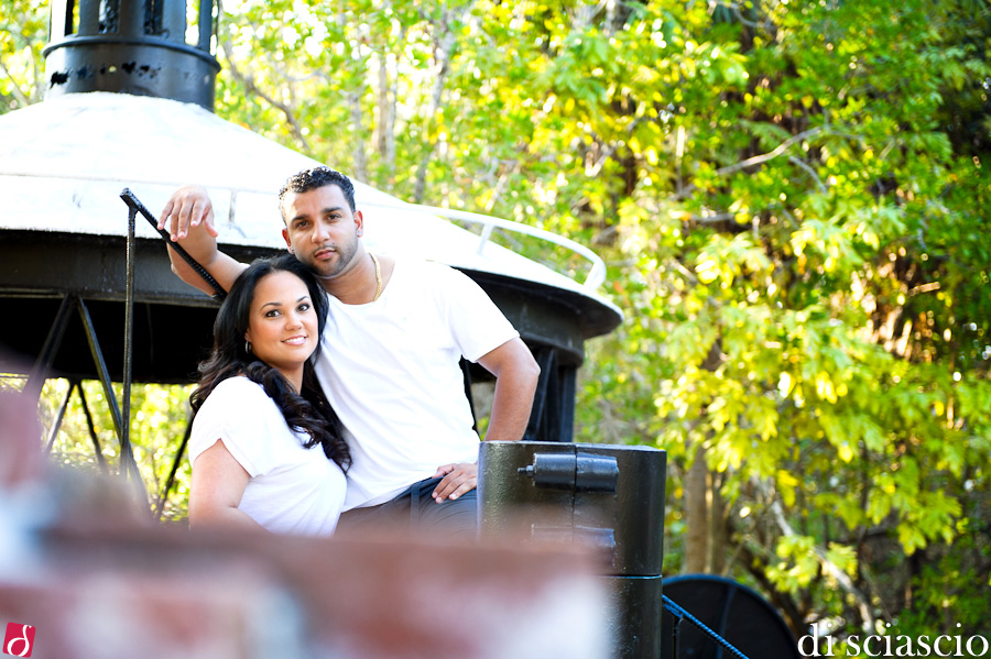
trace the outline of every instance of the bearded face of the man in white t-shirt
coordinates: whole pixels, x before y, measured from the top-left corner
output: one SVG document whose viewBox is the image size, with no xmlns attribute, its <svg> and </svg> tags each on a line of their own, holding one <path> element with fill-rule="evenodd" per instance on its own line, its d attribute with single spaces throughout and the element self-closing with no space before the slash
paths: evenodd
<svg viewBox="0 0 991 659">
<path fill-rule="evenodd" d="M 333 279 L 353 266 L 363 220 L 361 211 L 351 212 L 339 187 L 286 193 L 282 217 L 285 243 L 318 277 Z"/>
</svg>

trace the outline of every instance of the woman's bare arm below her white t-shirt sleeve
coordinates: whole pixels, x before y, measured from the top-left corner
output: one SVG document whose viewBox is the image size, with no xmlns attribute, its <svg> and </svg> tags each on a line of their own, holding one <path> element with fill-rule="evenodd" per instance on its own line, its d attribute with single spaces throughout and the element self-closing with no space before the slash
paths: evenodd
<svg viewBox="0 0 991 659">
<path fill-rule="evenodd" d="M 193 463 L 189 490 L 189 526 L 230 526 L 264 530 L 247 513 L 238 509 L 251 476 L 224 441 L 217 442 Z"/>
</svg>

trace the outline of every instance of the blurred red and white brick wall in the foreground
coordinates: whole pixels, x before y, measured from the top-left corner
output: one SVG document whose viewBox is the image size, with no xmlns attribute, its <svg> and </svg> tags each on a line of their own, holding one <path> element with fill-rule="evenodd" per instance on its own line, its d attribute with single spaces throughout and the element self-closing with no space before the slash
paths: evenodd
<svg viewBox="0 0 991 659">
<path fill-rule="evenodd" d="M 0 392 L 0 629 L 34 626 L 32 658 L 610 653 L 607 595 L 573 550 L 154 526 L 120 481 L 47 469 L 33 415 Z"/>
</svg>

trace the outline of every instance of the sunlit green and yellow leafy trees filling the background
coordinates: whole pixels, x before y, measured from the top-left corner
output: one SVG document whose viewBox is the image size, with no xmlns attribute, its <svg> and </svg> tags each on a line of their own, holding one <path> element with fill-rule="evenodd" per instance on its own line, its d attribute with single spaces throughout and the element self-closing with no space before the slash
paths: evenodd
<svg viewBox="0 0 991 659">
<path fill-rule="evenodd" d="M 217 113 L 607 257 L 576 438 L 668 451 L 666 572 L 797 633 L 984 630 L 988 0 L 422 4 L 226 3 Z M 4 3 L 0 111 L 41 98 L 43 6 Z"/>
</svg>

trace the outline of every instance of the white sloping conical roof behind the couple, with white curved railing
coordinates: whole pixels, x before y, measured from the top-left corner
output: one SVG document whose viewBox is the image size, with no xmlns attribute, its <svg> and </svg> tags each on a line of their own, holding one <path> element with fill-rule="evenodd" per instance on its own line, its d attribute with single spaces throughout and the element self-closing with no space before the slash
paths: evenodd
<svg viewBox="0 0 991 659">
<path fill-rule="evenodd" d="M 64 95 L 0 116 L 0 229 L 124 235 L 127 207 L 119 198 L 124 187 L 157 213 L 176 187 L 197 183 L 210 191 L 220 242 L 283 248 L 277 191 L 287 176 L 318 164 L 193 103 Z M 569 290 L 620 317 L 595 292 L 599 276 L 582 285 L 368 185 L 355 182 L 355 188 L 371 251 Z M 157 237 L 143 221 L 138 235 Z M 585 248 L 542 238 L 591 257 L 601 272 L 601 261 Z"/>
</svg>

